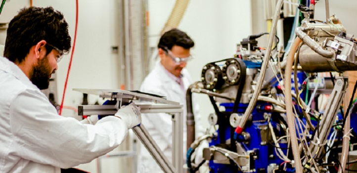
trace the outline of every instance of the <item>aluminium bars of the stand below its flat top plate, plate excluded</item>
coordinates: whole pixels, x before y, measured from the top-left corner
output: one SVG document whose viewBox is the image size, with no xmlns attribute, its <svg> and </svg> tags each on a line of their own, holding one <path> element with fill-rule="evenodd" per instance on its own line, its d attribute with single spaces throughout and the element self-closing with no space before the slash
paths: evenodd
<svg viewBox="0 0 357 173">
<path fill-rule="evenodd" d="M 173 160 L 171 164 L 156 142 L 152 139 L 144 125 L 133 128 L 134 133 L 144 144 L 156 163 L 165 173 L 183 172 L 183 109 L 177 104 L 136 104 L 141 113 L 169 113 L 173 121 Z M 78 115 L 114 115 L 116 105 L 82 105 L 78 107 Z"/>
</svg>

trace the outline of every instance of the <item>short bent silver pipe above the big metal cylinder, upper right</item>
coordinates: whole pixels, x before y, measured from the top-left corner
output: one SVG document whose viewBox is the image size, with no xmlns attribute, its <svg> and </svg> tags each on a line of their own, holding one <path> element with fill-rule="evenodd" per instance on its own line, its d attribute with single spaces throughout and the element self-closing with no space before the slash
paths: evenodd
<svg viewBox="0 0 357 173">
<path fill-rule="evenodd" d="M 312 40 L 312 38 L 310 38 L 303 30 L 311 30 L 311 28 L 298 27 L 296 28 L 295 33 L 313 51 L 326 58 L 332 58 L 334 56 L 335 53 L 333 51 L 323 49 L 320 44 Z"/>
</svg>

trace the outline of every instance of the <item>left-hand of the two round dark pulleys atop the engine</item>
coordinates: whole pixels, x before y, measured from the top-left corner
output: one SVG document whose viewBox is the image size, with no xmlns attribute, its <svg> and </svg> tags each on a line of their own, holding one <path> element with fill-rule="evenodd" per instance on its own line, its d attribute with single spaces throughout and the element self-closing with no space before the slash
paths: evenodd
<svg viewBox="0 0 357 173">
<path fill-rule="evenodd" d="M 213 63 L 205 65 L 202 69 L 201 80 L 205 89 L 219 89 L 224 83 L 221 68 Z"/>
</svg>

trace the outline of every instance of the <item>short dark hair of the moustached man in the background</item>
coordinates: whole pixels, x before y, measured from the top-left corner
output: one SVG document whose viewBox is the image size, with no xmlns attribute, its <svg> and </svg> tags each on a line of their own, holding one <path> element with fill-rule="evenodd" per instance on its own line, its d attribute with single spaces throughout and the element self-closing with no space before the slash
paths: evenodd
<svg viewBox="0 0 357 173">
<path fill-rule="evenodd" d="M 164 33 L 157 45 L 158 48 L 166 49 L 166 47 L 171 50 L 174 45 L 181 46 L 185 49 L 191 48 L 195 45 L 190 37 L 186 33 L 178 30 L 172 29 Z"/>
</svg>

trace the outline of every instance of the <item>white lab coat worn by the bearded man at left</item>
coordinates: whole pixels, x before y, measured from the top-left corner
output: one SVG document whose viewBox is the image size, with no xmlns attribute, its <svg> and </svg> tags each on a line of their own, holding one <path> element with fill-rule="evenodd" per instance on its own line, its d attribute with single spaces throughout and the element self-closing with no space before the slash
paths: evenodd
<svg viewBox="0 0 357 173">
<path fill-rule="evenodd" d="M 94 126 L 59 116 L 21 69 L 0 57 L 0 131 L 0 173 L 60 173 L 113 150 L 128 128 L 112 116 Z"/>
</svg>

